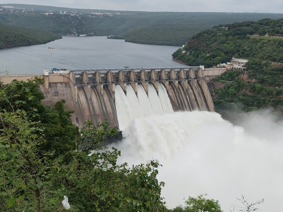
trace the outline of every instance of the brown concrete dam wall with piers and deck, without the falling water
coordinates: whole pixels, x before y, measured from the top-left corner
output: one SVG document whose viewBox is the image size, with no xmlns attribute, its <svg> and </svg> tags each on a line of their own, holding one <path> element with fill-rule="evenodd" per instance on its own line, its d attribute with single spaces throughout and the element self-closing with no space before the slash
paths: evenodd
<svg viewBox="0 0 283 212">
<path fill-rule="evenodd" d="M 82 127 L 87 119 L 92 119 L 95 124 L 107 119 L 111 126 L 119 129 L 115 86 L 121 87 L 126 96 L 127 87 L 132 88 L 138 96 L 138 84 L 148 95 L 150 83 L 158 95 L 161 83 L 174 111 L 213 111 L 214 104 L 205 77 L 225 71 L 203 70 L 200 66 L 56 70 L 53 73 L 46 69 L 41 75 L 0 75 L 0 81 L 6 84 L 13 79 L 44 78 L 44 85 L 40 86 L 46 97 L 42 101 L 44 105 L 54 106 L 56 101 L 65 99 L 66 109 L 75 111 L 71 117 L 73 124 Z"/>
</svg>

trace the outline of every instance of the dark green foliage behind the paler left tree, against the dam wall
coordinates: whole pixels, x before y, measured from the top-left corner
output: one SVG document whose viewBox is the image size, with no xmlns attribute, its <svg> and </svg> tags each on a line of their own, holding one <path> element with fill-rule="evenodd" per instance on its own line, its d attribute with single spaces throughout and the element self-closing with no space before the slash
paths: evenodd
<svg viewBox="0 0 283 212">
<path fill-rule="evenodd" d="M 38 77 L 28 79 L 27 82 L 13 80 L 6 85 L 1 83 L 0 110 L 8 113 L 22 110 L 29 119 L 40 121 L 40 127 L 44 129 L 44 133 L 40 135 L 44 137 L 40 148 L 55 151 L 55 154 L 60 155 L 76 147 L 79 129 L 70 120 L 74 111 L 65 111 L 65 100 L 55 103 L 53 109 L 41 103 L 45 97 L 39 86 L 43 83 L 44 80 Z"/>
</svg>

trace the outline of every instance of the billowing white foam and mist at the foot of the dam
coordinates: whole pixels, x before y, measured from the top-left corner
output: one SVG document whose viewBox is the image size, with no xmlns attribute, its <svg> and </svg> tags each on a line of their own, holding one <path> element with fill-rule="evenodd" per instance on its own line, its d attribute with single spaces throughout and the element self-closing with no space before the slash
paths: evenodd
<svg viewBox="0 0 283 212">
<path fill-rule="evenodd" d="M 165 182 L 162 196 L 169 208 L 183 204 L 184 196 L 207 193 L 219 200 L 224 211 L 231 204 L 240 205 L 236 198 L 241 194 L 250 202 L 264 198 L 258 205 L 261 211 L 282 211 L 283 124 L 271 115 L 264 121 L 258 114 L 245 117 L 247 128 L 233 126 L 214 112 L 134 119 L 116 146 L 122 155 L 119 162 L 131 165 L 158 159 L 163 165 L 158 179 Z M 259 121 L 257 130 L 251 130 Z"/>
</svg>

